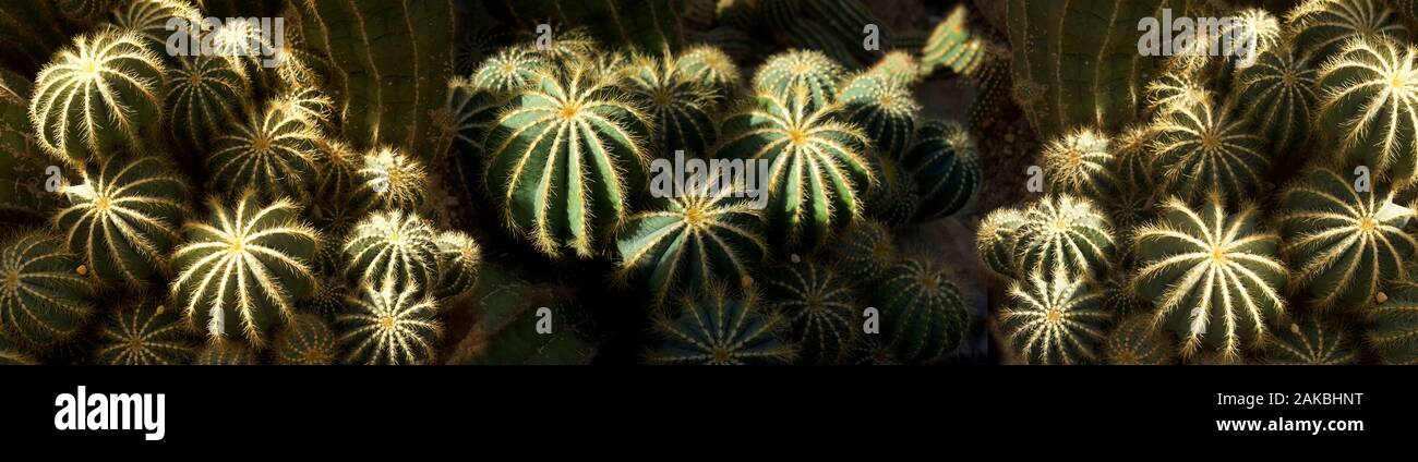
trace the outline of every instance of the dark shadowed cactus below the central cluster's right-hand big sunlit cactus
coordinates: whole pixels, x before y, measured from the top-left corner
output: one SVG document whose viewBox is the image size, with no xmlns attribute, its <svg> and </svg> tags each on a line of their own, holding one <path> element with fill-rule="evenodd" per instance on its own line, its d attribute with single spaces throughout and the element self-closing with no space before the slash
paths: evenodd
<svg viewBox="0 0 1418 462">
<path fill-rule="evenodd" d="M 820 264 L 801 262 L 774 271 L 763 286 L 766 306 L 786 317 L 801 361 L 837 364 L 845 357 L 861 329 L 848 279 Z"/>
</svg>

